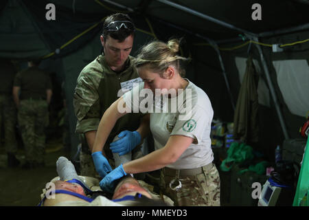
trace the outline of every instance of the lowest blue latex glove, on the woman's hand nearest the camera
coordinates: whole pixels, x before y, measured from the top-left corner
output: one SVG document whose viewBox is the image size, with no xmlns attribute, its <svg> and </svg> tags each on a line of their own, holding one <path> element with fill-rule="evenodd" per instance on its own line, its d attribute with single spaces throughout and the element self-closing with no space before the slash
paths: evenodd
<svg viewBox="0 0 309 220">
<path fill-rule="evenodd" d="M 120 179 L 121 177 L 124 177 L 126 175 L 126 172 L 124 171 L 124 167 L 122 164 L 117 166 L 115 170 L 111 171 L 111 173 L 108 173 L 106 177 L 104 177 L 100 181 L 100 187 L 103 191 L 111 192 L 113 193 L 113 190 L 115 188 L 115 180 Z"/>
</svg>

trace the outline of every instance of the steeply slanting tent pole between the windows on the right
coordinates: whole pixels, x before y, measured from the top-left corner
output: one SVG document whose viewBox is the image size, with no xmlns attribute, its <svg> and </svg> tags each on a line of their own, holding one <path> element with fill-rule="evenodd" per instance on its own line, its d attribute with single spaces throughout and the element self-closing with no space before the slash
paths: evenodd
<svg viewBox="0 0 309 220">
<path fill-rule="evenodd" d="M 259 42 L 257 37 L 255 37 L 254 40 Z M 279 102 L 278 102 L 277 96 L 275 94 L 275 89 L 273 88 L 273 83 L 271 82 L 271 76 L 270 76 L 269 71 L 268 71 L 268 67 L 267 67 L 267 64 L 266 64 L 263 52 L 262 52 L 262 48 L 258 44 L 255 44 L 255 46 L 258 48 L 258 51 L 260 53 L 260 59 L 261 59 L 261 62 L 262 62 L 263 68 L 264 68 L 264 72 L 265 72 L 266 80 L 267 80 L 267 83 L 268 83 L 268 87 L 269 87 L 269 90 L 271 91 L 271 96 L 273 98 L 273 102 L 275 103 L 275 109 L 277 111 L 279 122 L 280 122 L 280 124 L 282 126 L 282 131 L 284 133 L 284 137 L 287 140 L 289 138 L 288 137 L 288 131 L 286 129 L 286 124 L 284 123 L 284 118 L 282 116 L 281 109 L 279 107 Z"/>
</svg>

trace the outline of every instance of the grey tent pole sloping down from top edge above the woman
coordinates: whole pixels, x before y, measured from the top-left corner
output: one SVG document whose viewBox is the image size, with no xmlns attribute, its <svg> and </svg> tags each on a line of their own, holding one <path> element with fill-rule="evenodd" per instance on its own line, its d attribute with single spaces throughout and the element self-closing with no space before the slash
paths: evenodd
<svg viewBox="0 0 309 220">
<path fill-rule="evenodd" d="M 237 28 L 237 27 L 235 27 L 235 26 L 233 26 L 233 25 L 231 25 L 229 23 L 226 23 L 224 21 L 220 21 L 218 19 L 214 19 L 213 17 L 210 17 L 210 16 L 208 16 L 206 14 L 202 14 L 201 12 L 197 12 L 196 10 L 192 10 L 190 8 L 187 8 L 187 7 L 183 6 L 183 5 L 179 5 L 179 4 L 174 3 L 172 1 L 167 1 L 167 0 L 157 0 L 157 1 L 159 1 L 161 3 L 164 3 L 166 5 L 170 5 L 170 6 L 174 7 L 174 8 L 179 9 L 179 10 L 183 10 L 183 11 L 188 12 L 190 14 L 194 14 L 195 16 L 200 17 L 202 19 L 206 19 L 208 21 L 217 23 L 217 24 L 219 24 L 221 26 L 224 26 L 225 28 L 230 28 L 230 29 L 237 30 L 237 31 L 245 33 L 245 34 L 250 34 L 252 36 L 256 36 L 256 34 L 254 34 L 252 32 L 249 32 L 247 30 L 243 30 L 242 28 Z"/>
</svg>

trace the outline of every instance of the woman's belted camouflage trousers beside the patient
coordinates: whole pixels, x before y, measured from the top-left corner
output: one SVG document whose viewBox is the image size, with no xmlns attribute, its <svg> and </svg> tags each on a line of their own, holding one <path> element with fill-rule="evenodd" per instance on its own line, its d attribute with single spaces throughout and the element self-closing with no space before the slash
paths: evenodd
<svg viewBox="0 0 309 220">
<path fill-rule="evenodd" d="M 180 175 L 178 190 L 170 188 L 170 181 L 175 178 L 175 174 L 161 169 L 161 192 L 174 201 L 174 206 L 220 206 L 220 177 L 215 164 L 204 166 L 203 173 L 197 175 Z"/>
</svg>

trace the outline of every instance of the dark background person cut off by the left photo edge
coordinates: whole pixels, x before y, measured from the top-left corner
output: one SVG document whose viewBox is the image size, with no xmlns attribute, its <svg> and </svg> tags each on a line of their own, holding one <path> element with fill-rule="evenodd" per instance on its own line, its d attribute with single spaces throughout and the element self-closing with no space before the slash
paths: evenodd
<svg viewBox="0 0 309 220">
<path fill-rule="evenodd" d="M 10 61 L 1 60 L 0 68 L 0 135 L 3 125 L 5 151 L 8 153 L 8 166 L 14 167 L 19 165 L 19 160 L 15 157 L 17 153 L 15 134 L 17 116 L 12 98 L 12 87 L 16 72 L 14 65 Z"/>
</svg>

